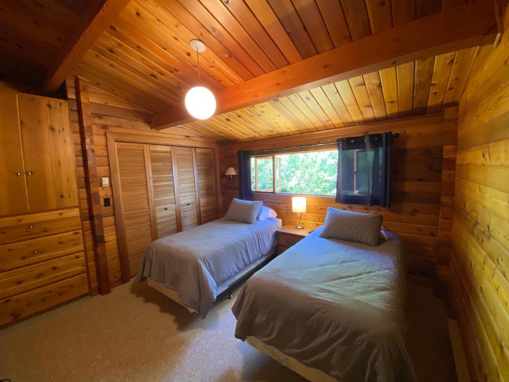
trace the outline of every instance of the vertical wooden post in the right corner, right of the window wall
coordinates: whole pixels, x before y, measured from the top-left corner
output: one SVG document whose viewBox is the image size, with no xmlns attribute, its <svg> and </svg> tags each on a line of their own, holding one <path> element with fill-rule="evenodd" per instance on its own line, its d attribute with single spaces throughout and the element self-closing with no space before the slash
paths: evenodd
<svg viewBox="0 0 509 382">
<path fill-rule="evenodd" d="M 458 107 L 444 110 L 442 146 L 442 184 L 440 190 L 440 220 L 436 245 L 437 285 L 435 292 L 445 295 L 450 255 L 450 234 L 453 227 L 454 187 L 456 177 L 456 143 L 458 140 Z"/>
</svg>

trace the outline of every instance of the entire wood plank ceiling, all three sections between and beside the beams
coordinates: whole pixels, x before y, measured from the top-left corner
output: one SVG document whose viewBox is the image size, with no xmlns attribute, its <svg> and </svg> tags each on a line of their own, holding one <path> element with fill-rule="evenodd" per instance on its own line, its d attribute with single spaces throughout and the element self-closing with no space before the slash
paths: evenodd
<svg viewBox="0 0 509 382">
<path fill-rule="evenodd" d="M 200 55 L 202 84 L 219 91 L 466 2 L 132 0 L 72 74 L 157 113 L 182 104 L 198 83 L 196 54 L 188 45 L 193 38 L 207 45 Z M 14 3 L 9 9 L 0 5 L 6 11 L 0 48 L 8 53 L 0 57 L 1 78 L 32 71 L 38 83 L 35 77 L 54 65 L 51 57 L 58 56 L 73 25 L 93 17 L 91 9 L 104 1 L 88 2 L 89 8 L 71 0 Z M 20 19 L 32 22 L 26 26 Z M 469 73 L 489 49 L 430 57 L 180 127 L 217 140 L 250 140 L 438 112 L 458 102 Z"/>
</svg>

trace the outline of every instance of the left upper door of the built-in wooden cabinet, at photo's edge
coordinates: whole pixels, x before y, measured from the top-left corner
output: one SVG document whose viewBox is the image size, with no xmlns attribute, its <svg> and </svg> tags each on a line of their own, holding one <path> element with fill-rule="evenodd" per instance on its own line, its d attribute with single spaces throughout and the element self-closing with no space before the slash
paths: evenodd
<svg viewBox="0 0 509 382">
<path fill-rule="evenodd" d="M 16 94 L 0 93 L 0 215 L 29 211 Z"/>
</svg>

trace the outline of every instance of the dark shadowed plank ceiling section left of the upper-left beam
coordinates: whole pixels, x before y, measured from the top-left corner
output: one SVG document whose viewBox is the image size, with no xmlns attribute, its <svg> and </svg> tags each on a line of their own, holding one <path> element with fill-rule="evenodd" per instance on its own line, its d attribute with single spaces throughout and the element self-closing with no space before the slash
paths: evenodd
<svg viewBox="0 0 509 382">
<path fill-rule="evenodd" d="M 0 2 L 0 80 L 22 91 L 43 85 L 104 0 Z"/>
</svg>

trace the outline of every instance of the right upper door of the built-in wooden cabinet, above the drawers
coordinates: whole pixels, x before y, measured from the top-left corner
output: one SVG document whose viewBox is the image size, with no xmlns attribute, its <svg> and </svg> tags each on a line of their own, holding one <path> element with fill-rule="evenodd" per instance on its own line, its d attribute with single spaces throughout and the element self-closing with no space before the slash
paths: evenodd
<svg viewBox="0 0 509 382">
<path fill-rule="evenodd" d="M 30 210 L 77 206 L 66 102 L 20 94 L 18 107 Z"/>
</svg>

